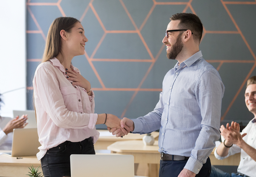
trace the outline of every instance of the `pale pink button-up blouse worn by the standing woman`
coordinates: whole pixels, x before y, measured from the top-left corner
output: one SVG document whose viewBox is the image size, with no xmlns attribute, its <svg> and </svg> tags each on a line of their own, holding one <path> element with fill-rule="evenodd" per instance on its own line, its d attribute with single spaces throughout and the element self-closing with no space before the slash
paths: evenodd
<svg viewBox="0 0 256 177">
<path fill-rule="evenodd" d="M 80 73 L 71 64 L 71 68 Z M 94 93 L 88 96 L 80 86 L 66 78 L 65 68 L 57 58 L 38 65 L 33 79 L 37 132 L 41 146 L 36 154 L 40 160 L 47 150 L 65 141 L 79 142 L 99 138 L 95 128 Z"/>
</svg>

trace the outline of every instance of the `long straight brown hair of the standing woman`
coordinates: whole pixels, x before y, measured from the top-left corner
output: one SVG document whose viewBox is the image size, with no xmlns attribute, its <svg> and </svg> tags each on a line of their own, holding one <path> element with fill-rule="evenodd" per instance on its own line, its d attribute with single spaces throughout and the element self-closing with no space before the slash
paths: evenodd
<svg viewBox="0 0 256 177">
<path fill-rule="evenodd" d="M 59 17 L 56 18 L 51 24 L 45 45 L 44 55 L 42 57 L 42 63 L 57 56 L 61 51 L 61 30 L 70 32 L 71 28 L 80 21 L 73 17 Z"/>
</svg>

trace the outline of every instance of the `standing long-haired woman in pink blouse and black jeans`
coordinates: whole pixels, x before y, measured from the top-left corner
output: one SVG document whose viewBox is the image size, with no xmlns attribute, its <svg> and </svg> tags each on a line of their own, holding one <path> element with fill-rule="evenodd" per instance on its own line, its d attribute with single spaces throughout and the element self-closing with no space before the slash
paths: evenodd
<svg viewBox="0 0 256 177">
<path fill-rule="evenodd" d="M 72 17 L 53 21 L 47 35 L 42 63 L 33 79 L 34 106 L 41 146 L 37 153 L 45 177 L 71 176 L 71 154 L 95 154 L 99 137 L 96 124 L 120 129 L 122 136 L 131 130 L 120 127 L 111 114 L 94 114 L 91 84 L 71 64 L 83 55 L 88 39 L 81 23 Z M 107 104 L 107 103 L 106 103 Z"/>
</svg>

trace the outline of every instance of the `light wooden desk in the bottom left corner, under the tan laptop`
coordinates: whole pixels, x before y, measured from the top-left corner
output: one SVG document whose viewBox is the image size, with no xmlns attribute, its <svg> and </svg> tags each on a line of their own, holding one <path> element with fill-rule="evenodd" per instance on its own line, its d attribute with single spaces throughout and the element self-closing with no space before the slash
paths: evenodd
<svg viewBox="0 0 256 177">
<path fill-rule="evenodd" d="M 4 151 L 0 151 L 4 152 Z M 11 157 L 5 154 L 0 155 L 0 176 L 5 177 L 27 177 L 29 174 L 28 167 L 39 167 L 39 172 L 42 172 L 41 163 L 37 160 L 36 156 L 23 156 L 22 159 Z"/>
</svg>

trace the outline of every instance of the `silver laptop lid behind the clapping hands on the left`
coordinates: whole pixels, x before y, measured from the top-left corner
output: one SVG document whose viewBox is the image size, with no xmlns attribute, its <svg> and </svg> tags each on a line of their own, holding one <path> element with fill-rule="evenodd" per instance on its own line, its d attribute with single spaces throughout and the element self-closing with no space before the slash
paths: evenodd
<svg viewBox="0 0 256 177">
<path fill-rule="evenodd" d="M 21 117 L 22 115 L 26 115 L 28 119 L 26 120 L 26 122 L 28 123 L 26 125 L 26 127 L 24 127 L 25 129 L 27 128 L 37 128 L 36 125 L 36 119 L 35 119 L 35 111 L 34 110 L 26 110 L 26 111 L 17 111 L 17 110 L 13 110 L 13 117 L 15 118 L 16 116 Z"/>
</svg>

